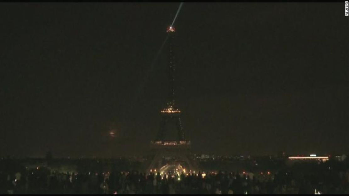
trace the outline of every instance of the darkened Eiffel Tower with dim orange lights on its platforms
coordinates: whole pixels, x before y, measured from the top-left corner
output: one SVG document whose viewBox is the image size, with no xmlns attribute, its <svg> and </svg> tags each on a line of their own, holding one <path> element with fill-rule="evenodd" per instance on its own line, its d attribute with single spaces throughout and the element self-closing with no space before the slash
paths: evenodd
<svg viewBox="0 0 349 196">
<path fill-rule="evenodd" d="M 187 171 L 197 169 L 195 161 L 191 159 L 190 148 L 191 142 L 186 138 L 185 132 L 182 128 L 181 111 L 175 104 L 175 85 L 174 85 L 174 70 L 175 59 L 173 55 L 174 46 L 174 27 L 168 27 L 166 30 L 169 38 L 169 94 L 168 102 L 164 109 L 160 111 L 161 123 L 160 130 L 156 135 L 156 139 L 151 141 L 151 151 L 153 152 L 153 159 L 148 164 L 147 172 L 150 170 L 164 168 L 168 164 L 180 165 Z M 172 134 L 172 137 L 170 133 Z M 168 163 L 164 164 L 164 159 L 170 158 Z M 168 159 L 169 160 L 169 159 Z M 184 170 L 185 171 L 185 170 Z"/>
</svg>

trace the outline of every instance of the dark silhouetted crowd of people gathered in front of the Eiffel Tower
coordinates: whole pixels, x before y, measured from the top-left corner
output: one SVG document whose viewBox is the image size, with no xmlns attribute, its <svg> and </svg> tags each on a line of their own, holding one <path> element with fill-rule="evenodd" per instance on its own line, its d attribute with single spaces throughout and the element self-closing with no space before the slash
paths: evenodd
<svg viewBox="0 0 349 196">
<path fill-rule="evenodd" d="M 57 173 L 38 168 L 24 175 L 20 172 L 1 175 L 0 184 L 2 194 L 314 194 L 314 191 L 348 194 L 346 175 L 339 179 L 340 183 L 327 186 L 312 182 L 311 178 L 297 182 L 280 174 L 261 181 L 228 172 Z"/>
</svg>

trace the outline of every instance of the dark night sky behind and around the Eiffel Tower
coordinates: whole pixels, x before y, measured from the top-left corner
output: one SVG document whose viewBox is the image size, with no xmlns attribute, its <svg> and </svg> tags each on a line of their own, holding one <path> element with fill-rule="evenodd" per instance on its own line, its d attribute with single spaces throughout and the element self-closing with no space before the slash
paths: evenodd
<svg viewBox="0 0 349 196">
<path fill-rule="evenodd" d="M 147 152 L 167 51 L 151 64 L 178 5 L 1 3 L 0 155 Z M 348 19 L 344 2 L 184 3 L 177 103 L 193 151 L 348 153 Z"/>
</svg>

